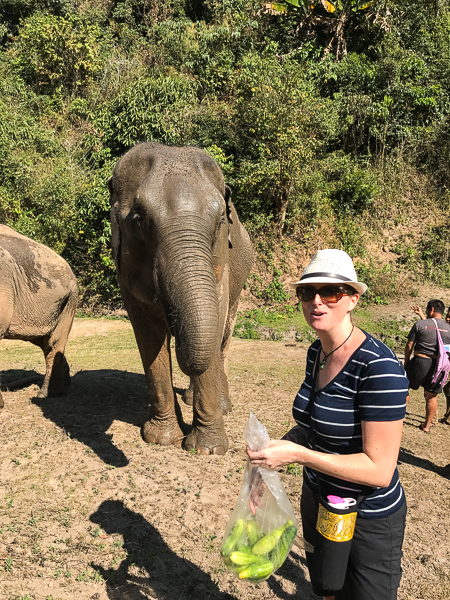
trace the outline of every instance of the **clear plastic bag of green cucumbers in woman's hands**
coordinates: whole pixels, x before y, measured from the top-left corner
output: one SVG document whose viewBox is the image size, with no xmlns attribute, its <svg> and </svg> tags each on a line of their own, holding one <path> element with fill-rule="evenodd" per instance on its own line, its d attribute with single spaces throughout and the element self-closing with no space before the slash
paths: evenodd
<svg viewBox="0 0 450 600">
<path fill-rule="evenodd" d="M 269 445 L 267 430 L 253 413 L 244 428 L 244 438 L 254 451 Z M 251 582 L 267 579 L 286 560 L 297 526 L 278 473 L 247 460 L 244 482 L 222 542 L 221 554 L 228 570 Z"/>
</svg>

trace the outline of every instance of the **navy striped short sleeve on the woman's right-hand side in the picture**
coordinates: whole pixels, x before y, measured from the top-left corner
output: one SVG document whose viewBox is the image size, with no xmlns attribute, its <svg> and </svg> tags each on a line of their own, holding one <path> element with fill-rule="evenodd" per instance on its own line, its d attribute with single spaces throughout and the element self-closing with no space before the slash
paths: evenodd
<svg viewBox="0 0 450 600">
<path fill-rule="evenodd" d="M 408 378 L 394 353 L 369 361 L 360 375 L 357 400 L 362 421 L 399 421 L 406 415 Z"/>
</svg>

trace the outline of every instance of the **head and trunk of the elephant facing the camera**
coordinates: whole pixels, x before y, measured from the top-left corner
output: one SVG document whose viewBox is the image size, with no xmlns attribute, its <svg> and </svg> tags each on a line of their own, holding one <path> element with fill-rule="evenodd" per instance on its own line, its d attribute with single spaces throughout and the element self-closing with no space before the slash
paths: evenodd
<svg viewBox="0 0 450 600">
<path fill-rule="evenodd" d="M 180 368 L 200 375 L 220 348 L 228 302 L 231 200 L 222 172 L 203 150 L 150 142 L 118 161 L 108 185 L 122 293 L 164 319 Z"/>
</svg>

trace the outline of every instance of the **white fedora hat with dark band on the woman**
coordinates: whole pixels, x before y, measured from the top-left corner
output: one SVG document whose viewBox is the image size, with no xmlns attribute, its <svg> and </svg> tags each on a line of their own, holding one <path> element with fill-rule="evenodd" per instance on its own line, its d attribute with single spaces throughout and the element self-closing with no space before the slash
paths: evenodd
<svg viewBox="0 0 450 600">
<path fill-rule="evenodd" d="M 358 281 L 353 261 L 343 250 L 318 250 L 303 271 L 300 281 L 293 281 L 294 288 L 308 283 L 348 284 L 359 294 L 364 294 L 367 285 Z"/>
</svg>

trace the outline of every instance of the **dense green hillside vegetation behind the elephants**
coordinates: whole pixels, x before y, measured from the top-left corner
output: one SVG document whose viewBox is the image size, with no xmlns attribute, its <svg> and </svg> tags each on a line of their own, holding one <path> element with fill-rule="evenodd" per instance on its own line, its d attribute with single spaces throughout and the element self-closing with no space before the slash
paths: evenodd
<svg viewBox="0 0 450 600">
<path fill-rule="evenodd" d="M 450 287 L 446 0 L 0 0 L 0 222 L 118 299 L 106 180 L 133 144 L 221 165 L 259 260 L 249 290 L 318 247 L 369 300 Z"/>
</svg>

